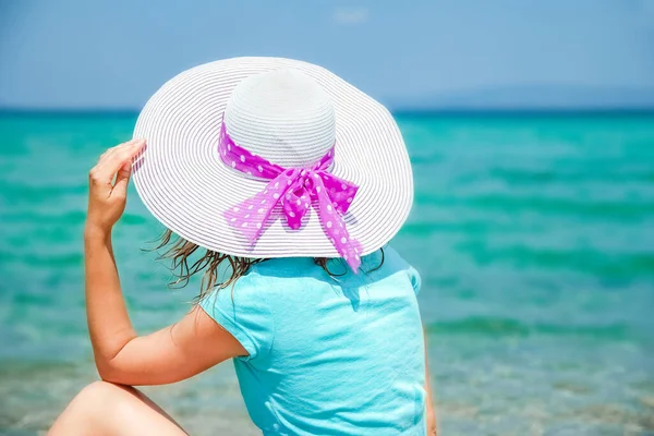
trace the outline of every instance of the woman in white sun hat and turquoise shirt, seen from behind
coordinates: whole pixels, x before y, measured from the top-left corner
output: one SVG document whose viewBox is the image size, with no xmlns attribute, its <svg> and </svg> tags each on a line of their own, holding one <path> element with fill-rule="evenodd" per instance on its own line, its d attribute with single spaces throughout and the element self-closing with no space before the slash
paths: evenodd
<svg viewBox="0 0 654 436">
<path fill-rule="evenodd" d="M 132 386 L 232 359 L 265 435 L 436 434 L 415 294 L 387 243 L 411 208 L 407 150 L 388 111 L 305 62 L 238 58 L 189 70 L 148 101 L 134 140 L 89 173 L 86 311 L 102 382 L 50 435 L 183 435 Z M 160 246 L 199 303 L 137 336 L 111 229 L 130 175 L 169 230 Z M 204 255 L 189 266 L 191 255 Z"/>
</svg>

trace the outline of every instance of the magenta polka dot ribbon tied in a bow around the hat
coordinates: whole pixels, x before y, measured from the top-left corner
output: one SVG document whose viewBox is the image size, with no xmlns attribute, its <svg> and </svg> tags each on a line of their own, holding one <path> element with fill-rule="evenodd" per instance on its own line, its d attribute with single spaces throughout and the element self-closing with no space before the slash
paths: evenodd
<svg viewBox="0 0 654 436">
<path fill-rule="evenodd" d="M 313 206 L 323 231 L 356 272 L 361 264 L 361 244 L 350 237 L 342 215 L 348 211 L 359 186 L 327 171 L 334 161 L 334 147 L 312 168 L 282 168 L 237 145 L 222 123 L 218 150 L 226 165 L 269 180 L 259 193 L 225 213 L 228 223 L 243 233 L 251 244 L 256 243 L 277 205 L 281 205 L 282 215 L 293 230 L 300 229 L 302 218 Z"/>
</svg>

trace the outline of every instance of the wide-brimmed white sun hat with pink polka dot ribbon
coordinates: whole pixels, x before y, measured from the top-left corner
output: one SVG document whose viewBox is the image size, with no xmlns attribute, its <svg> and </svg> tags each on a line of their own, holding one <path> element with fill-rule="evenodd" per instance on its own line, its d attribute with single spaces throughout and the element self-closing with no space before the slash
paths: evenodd
<svg viewBox="0 0 654 436">
<path fill-rule="evenodd" d="M 133 180 L 148 210 L 244 257 L 360 256 L 407 219 L 413 178 L 388 110 L 324 68 L 233 58 L 184 71 L 138 116 Z"/>
</svg>

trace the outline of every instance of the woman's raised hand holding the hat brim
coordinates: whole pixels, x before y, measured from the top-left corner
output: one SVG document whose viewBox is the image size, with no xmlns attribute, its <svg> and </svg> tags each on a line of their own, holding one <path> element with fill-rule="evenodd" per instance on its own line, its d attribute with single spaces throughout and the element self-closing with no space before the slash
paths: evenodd
<svg viewBox="0 0 654 436">
<path fill-rule="evenodd" d="M 101 235 L 111 232 L 125 210 L 132 158 L 144 145 L 145 140 L 132 140 L 109 148 L 88 172 L 87 232 Z"/>
</svg>

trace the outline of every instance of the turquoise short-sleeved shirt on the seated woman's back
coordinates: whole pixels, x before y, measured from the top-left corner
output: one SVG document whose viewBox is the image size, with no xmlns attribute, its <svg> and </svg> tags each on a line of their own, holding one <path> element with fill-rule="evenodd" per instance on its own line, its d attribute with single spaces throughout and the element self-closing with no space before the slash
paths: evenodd
<svg viewBox="0 0 654 436">
<path fill-rule="evenodd" d="M 233 362 L 264 435 L 426 434 L 420 276 L 384 257 L 358 275 L 329 261 L 335 278 L 308 257 L 270 259 L 201 302 L 249 353 Z"/>
</svg>

